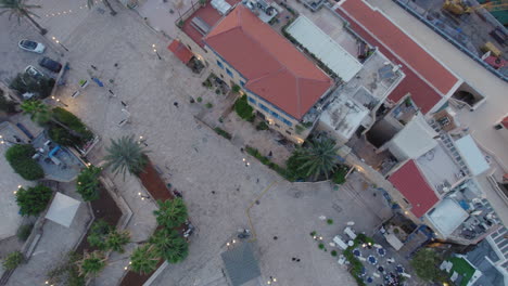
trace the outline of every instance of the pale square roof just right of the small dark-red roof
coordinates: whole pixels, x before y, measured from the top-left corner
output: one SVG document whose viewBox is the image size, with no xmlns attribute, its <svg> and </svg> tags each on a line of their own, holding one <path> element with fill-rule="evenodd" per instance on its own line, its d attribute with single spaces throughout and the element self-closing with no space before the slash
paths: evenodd
<svg viewBox="0 0 508 286">
<path fill-rule="evenodd" d="M 437 204 L 428 217 L 435 229 L 447 237 L 466 221 L 469 214 L 455 200 L 445 198 Z"/>
</svg>

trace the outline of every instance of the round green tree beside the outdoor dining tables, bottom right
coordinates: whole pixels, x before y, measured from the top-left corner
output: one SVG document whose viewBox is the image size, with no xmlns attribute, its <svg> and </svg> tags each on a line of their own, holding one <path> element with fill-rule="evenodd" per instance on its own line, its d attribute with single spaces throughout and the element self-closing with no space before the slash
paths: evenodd
<svg viewBox="0 0 508 286">
<path fill-rule="evenodd" d="M 439 265 L 443 259 L 432 249 L 423 248 L 418 250 L 411 259 L 411 266 L 417 275 L 427 282 L 437 282 L 443 277 Z"/>
</svg>

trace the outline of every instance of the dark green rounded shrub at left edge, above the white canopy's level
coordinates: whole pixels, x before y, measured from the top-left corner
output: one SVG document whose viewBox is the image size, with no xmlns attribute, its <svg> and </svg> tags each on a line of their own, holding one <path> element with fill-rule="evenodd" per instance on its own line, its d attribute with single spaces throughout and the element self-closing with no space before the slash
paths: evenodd
<svg viewBox="0 0 508 286">
<path fill-rule="evenodd" d="M 36 153 L 30 144 L 16 144 L 5 152 L 5 158 L 23 179 L 34 181 L 45 177 L 40 165 L 31 158 Z"/>
</svg>

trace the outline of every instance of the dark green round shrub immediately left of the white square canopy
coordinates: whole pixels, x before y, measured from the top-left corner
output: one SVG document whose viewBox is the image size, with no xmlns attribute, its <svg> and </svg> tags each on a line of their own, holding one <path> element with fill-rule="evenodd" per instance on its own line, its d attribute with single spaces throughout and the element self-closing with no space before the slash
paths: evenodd
<svg viewBox="0 0 508 286">
<path fill-rule="evenodd" d="M 20 187 L 16 192 L 16 203 L 22 216 L 37 216 L 46 209 L 52 191 L 45 185 L 36 185 L 27 190 Z"/>
</svg>

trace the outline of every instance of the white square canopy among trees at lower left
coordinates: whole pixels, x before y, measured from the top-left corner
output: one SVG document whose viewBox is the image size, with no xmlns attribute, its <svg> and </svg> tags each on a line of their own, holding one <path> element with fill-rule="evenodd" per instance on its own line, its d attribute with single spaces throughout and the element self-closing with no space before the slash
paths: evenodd
<svg viewBox="0 0 508 286">
<path fill-rule="evenodd" d="M 56 192 L 50 209 L 48 210 L 48 213 L 46 213 L 46 218 L 68 227 L 76 216 L 79 204 L 79 200 Z"/>
</svg>

